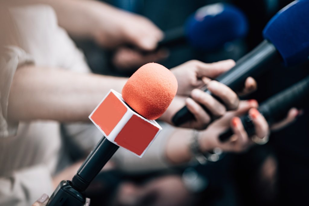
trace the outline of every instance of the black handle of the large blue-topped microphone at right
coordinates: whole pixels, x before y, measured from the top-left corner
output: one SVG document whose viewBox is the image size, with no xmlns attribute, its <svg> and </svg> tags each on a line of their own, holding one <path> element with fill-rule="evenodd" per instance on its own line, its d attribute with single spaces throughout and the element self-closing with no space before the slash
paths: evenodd
<svg viewBox="0 0 309 206">
<path fill-rule="evenodd" d="M 249 76 L 256 77 L 264 73 L 270 67 L 270 62 L 277 64 L 280 61 L 281 56 L 274 45 L 269 41 L 264 40 L 255 49 L 239 59 L 236 62 L 235 67 L 220 75 L 215 80 L 227 85 L 234 91 L 237 91 L 243 88 L 243 85 Z M 208 89 L 205 89 L 204 91 L 211 94 Z M 212 96 L 214 97 L 214 95 Z M 193 114 L 190 113 L 186 106 L 184 106 L 174 115 L 172 122 L 175 126 L 180 126 L 193 118 Z"/>
</svg>

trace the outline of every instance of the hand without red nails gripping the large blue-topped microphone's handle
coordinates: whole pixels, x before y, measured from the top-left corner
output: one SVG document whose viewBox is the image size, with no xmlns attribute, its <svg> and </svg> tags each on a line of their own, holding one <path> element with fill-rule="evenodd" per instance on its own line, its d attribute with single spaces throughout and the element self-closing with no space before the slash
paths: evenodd
<svg viewBox="0 0 309 206">
<path fill-rule="evenodd" d="M 210 79 L 216 78 L 218 75 L 231 69 L 234 65 L 235 62 L 233 60 L 225 60 L 211 64 L 191 60 L 171 69 L 178 81 L 177 94 L 179 96 L 175 97 L 161 119 L 171 123 L 171 118 L 179 109 L 186 105 L 195 119 L 186 122 L 181 125 L 181 127 L 205 129 L 211 122 L 211 118 L 221 117 L 226 113 L 226 109 L 237 109 L 239 104 L 237 94 L 226 85 Z M 198 89 L 205 84 L 207 84 L 207 88 L 210 92 L 222 100 L 223 104 L 211 95 Z M 249 93 L 255 89 L 256 81 L 249 77 L 245 82 L 242 92 Z M 192 98 L 185 99 L 184 95 L 188 94 L 191 94 Z M 207 114 L 200 104 L 204 105 L 211 114 Z"/>
</svg>

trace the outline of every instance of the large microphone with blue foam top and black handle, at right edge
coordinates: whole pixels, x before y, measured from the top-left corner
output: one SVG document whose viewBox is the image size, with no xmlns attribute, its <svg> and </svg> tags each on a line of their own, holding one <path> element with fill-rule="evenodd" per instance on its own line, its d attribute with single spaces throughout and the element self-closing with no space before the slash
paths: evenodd
<svg viewBox="0 0 309 206">
<path fill-rule="evenodd" d="M 220 75 L 218 82 L 240 90 L 245 80 L 267 71 L 271 64 L 283 62 L 292 66 L 308 60 L 309 56 L 309 1 L 294 1 L 281 9 L 263 30 L 264 41 L 240 58 L 235 67 Z M 206 93 L 211 92 L 202 88 Z M 211 94 L 212 95 L 212 94 Z M 204 108 L 206 111 L 207 109 Z M 176 126 L 193 119 L 186 106 L 172 118 Z"/>
</svg>

